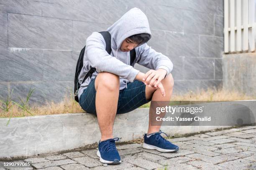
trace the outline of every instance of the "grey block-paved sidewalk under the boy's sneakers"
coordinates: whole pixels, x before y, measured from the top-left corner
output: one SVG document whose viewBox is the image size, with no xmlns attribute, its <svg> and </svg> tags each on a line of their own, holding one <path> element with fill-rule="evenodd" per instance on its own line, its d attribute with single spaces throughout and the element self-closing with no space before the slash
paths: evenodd
<svg viewBox="0 0 256 170">
<path fill-rule="evenodd" d="M 96 149 L 44 155 L 23 161 L 32 162 L 33 167 L 26 170 L 256 169 L 256 126 L 213 131 L 170 141 L 179 146 L 177 153 L 146 150 L 137 143 L 119 145 L 117 148 L 122 159 L 119 165 L 104 166 L 96 155 Z"/>
</svg>

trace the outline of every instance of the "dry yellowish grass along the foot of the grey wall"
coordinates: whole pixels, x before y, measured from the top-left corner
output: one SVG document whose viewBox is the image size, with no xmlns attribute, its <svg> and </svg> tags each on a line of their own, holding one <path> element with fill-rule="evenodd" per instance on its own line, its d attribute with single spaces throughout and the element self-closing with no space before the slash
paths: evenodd
<svg viewBox="0 0 256 170">
<path fill-rule="evenodd" d="M 227 90 L 201 90 L 188 92 L 184 95 L 173 95 L 172 101 L 233 101 L 233 100 L 250 100 L 256 99 L 255 96 L 247 96 L 236 91 Z M 11 103 L 12 107 L 8 112 L 0 110 L 0 117 L 22 117 L 31 116 L 28 112 L 21 110 L 17 105 Z M 150 102 L 141 106 L 149 107 Z M 81 113 L 84 112 L 80 105 L 72 99 L 71 96 L 64 98 L 62 102 L 49 102 L 44 106 L 31 106 L 30 112 L 33 115 L 52 115 L 61 113 Z"/>
</svg>

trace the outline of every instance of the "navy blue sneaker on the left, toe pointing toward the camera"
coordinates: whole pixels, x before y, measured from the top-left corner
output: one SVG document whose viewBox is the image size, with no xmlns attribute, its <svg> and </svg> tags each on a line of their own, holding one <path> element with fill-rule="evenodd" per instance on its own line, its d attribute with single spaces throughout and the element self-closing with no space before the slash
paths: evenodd
<svg viewBox="0 0 256 170">
<path fill-rule="evenodd" d="M 113 138 L 108 140 L 103 140 L 99 142 L 97 156 L 100 157 L 101 163 L 107 164 L 119 164 L 121 163 L 121 158 L 119 156 L 118 150 L 115 148 L 115 141 L 120 141 L 119 138 Z"/>
</svg>

